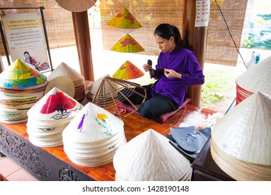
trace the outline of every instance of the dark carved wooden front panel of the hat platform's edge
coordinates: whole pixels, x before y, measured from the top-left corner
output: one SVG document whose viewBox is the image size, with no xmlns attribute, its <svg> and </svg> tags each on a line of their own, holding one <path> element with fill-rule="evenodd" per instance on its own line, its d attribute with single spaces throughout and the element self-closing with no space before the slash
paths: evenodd
<svg viewBox="0 0 271 195">
<path fill-rule="evenodd" d="M 33 146 L 11 130 L 0 127 L 0 153 L 31 173 L 38 180 L 80 181 L 93 180 L 65 162 Z"/>
</svg>

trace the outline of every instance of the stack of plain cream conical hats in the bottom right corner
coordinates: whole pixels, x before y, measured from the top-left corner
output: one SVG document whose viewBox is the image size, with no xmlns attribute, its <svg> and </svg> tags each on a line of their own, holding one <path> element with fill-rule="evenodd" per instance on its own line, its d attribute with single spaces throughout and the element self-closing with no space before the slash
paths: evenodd
<svg viewBox="0 0 271 195">
<path fill-rule="evenodd" d="M 271 180 L 271 95 L 256 92 L 212 128 L 211 154 L 235 180 Z"/>
</svg>

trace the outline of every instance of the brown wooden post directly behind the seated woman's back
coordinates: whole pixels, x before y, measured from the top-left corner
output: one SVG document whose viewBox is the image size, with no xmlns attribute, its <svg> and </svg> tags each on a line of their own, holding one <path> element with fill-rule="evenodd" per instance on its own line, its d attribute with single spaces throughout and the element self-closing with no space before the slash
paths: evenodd
<svg viewBox="0 0 271 195">
<path fill-rule="evenodd" d="M 207 26 L 195 27 L 196 0 L 184 0 L 183 12 L 183 39 L 196 55 L 201 68 L 204 68 L 207 45 Z M 187 96 L 192 98 L 189 104 L 199 107 L 201 105 L 201 85 L 189 86 Z"/>
</svg>

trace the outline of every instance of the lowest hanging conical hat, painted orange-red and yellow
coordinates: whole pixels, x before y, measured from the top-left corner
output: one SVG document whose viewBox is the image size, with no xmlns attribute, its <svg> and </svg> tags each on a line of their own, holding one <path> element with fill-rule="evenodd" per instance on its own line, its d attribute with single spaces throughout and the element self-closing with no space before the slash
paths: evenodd
<svg viewBox="0 0 271 195">
<path fill-rule="evenodd" d="M 125 61 L 114 75 L 112 75 L 116 79 L 137 79 L 142 76 L 144 76 L 144 72 L 130 61 Z"/>
</svg>

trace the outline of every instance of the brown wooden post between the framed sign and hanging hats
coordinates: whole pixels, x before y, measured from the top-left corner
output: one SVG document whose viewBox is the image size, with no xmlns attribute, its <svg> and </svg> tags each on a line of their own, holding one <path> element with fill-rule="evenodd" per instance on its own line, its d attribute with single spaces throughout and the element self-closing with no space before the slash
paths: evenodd
<svg viewBox="0 0 271 195">
<path fill-rule="evenodd" d="M 93 62 L 91 55 L 91 35 L 88 26 L 88 11 L 72 12 L 75 41 L 79 57 L 81 74 L 84 79 L 94 81 Z"/>
</svg>

